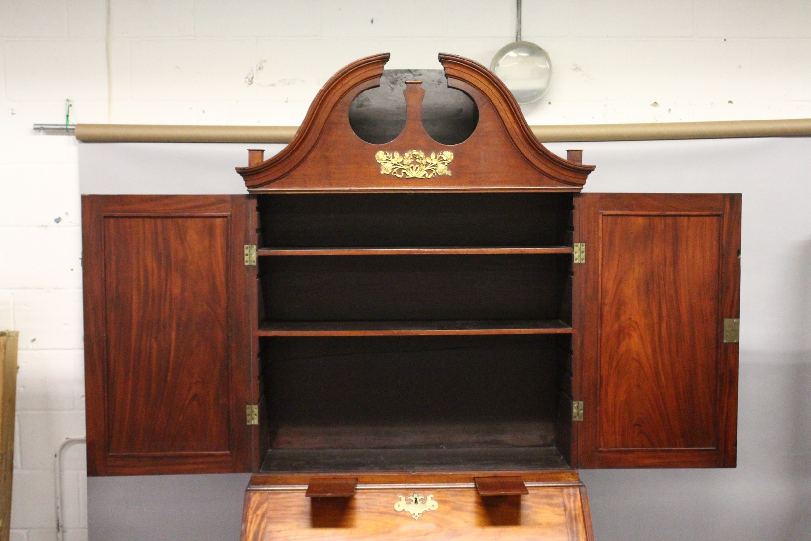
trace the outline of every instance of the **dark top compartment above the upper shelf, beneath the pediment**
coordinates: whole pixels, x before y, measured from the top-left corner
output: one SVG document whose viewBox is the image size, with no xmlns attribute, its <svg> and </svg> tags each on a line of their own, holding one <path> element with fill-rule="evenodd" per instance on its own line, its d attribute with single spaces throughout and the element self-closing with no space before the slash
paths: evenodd
<svg viewBox="0 0 811 541">
<path fill-rule="evenodd" d="M 260 199 L 266 247 L 560 246 L 570 194 L 281 194 Z"/>
</svg>

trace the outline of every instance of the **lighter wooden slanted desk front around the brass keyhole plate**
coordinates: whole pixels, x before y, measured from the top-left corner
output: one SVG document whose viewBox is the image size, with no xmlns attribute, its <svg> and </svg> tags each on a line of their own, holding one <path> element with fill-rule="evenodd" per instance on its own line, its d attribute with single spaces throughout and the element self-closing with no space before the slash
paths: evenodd
<svg viewBox="0 0 811 541">
<path fill-rule="evenodd" d="M 587 541 L 581 484 L 539 484 L 526 496 L 483 498 L 465 485 L 358 486 L 351 499 L 311 499 L 302 489 L 262 490 L 245 496 L 242 537 L 266 539 L 550 539 Z M 418 520 L 394 504 L 414 493 L 436 509 Z"/>
</svg>

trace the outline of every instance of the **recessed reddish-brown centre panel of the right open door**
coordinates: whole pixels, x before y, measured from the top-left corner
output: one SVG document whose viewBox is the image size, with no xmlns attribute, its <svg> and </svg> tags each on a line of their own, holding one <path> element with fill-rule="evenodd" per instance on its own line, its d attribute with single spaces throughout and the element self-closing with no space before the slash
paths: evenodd
<svg viewBox="0 0 811 541">
<path fill-rule="evenodd" d="M 714 447 L 721 218 L 600 225 L 601 449 Z"/>
</svg>

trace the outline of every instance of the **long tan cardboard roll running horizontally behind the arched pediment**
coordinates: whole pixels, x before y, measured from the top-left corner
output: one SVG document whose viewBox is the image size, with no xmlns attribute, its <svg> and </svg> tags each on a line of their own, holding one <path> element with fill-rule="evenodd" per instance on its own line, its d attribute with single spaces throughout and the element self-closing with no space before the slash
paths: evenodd
<svg viewBox="0 0 811 541">
<path fill-rule="evenodd" d="M 730 122 L 667 122 L 653 124 L 581 124 L 533 126 L 543 143 L 558 141 L 633 141 L 793 137 L 811 135 L 811 118 L 737 120 Z M 295 126 L 156 126 L 76 124 L 84 142 L 132 143 L 289 143 Z"/>
</svg>

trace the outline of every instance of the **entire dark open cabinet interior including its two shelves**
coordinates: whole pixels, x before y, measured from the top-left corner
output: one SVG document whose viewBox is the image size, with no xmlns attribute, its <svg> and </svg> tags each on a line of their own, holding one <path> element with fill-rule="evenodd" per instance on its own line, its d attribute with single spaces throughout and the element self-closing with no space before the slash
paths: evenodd
<svg viewBox="0 0 811 541">
<path fill-rule="evenodd" d="M 568 467 L 571 194 L 256 197 L 262 470 Z"/>
</svg>

